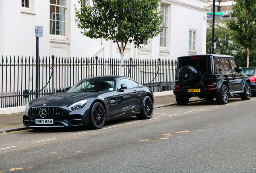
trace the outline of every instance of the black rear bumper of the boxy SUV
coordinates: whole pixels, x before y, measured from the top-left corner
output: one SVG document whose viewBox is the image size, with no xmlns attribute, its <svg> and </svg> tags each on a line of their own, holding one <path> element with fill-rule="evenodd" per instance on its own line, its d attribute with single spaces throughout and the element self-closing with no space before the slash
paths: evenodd
<svg viewBox="0 0 256 173">
<path fill-rule="evenodd" d="M 200 88 L 200 92 L 194 92 L 189 93 L 188 89 L 192 88 L 181 88 L 181 89 L 174 89 L 173 93 L 175 95 L 187 95 L 189 97 L 198 97 L 198 96 L 204 96 L 204 95 L 215 95 L 216 93 L 219 93 L 221 91 L 220 87 L 217 88 Z M 199 89 L 199 88 L 196 88 Z"/>
</svg>

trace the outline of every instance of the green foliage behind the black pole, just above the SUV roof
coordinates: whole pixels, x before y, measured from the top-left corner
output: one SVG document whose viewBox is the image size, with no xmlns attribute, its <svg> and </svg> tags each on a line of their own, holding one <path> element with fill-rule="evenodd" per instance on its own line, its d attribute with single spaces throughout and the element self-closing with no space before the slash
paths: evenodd
<svg viewBox="0 0 256 173">
<path fill-rule="evenodd" d="M 210 22 L 206 30 L 206 53 L 212 53 L 212 29 L 213 23 Z M 232 55 L 237 50 L 237 45 L 232 40 L 231 30 L 227 28 L 226 20 L 219 20 L 215 24 L 216 54 Z"/>
</svg>

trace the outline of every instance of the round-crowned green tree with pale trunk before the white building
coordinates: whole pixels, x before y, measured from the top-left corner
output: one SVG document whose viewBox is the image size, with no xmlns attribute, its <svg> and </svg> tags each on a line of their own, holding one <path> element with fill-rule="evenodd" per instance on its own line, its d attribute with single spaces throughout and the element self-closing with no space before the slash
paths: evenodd
<svg viewBox="0 0 256 173">
<path fill-rule="evenodd" d="M 117 43 L 120 75 L 123 75 L 124 50 L 128 42 L 140 47 L 140 41 L 161 32 L 161 0 L 93 0 L 92 5 L 75 6 L 75 22 L 89 38 L 104 38 Z"/>
</svg>

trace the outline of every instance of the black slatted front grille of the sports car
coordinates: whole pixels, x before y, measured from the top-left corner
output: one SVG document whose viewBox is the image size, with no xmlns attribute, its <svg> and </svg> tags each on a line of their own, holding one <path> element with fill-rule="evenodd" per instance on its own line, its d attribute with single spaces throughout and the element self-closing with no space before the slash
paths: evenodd
<svg viewBox="0 0 256 173">
<path fill-rule="evenodd" d="M 46 111 L 46 117 L 45 119 L 52 119 L 52 118 L 59 118 L 64 116 L 64 112 L 61 108 L 56 107 L 40 107 L 40 108 L 30 108 L 28 112 L 28 116 L 30 118 L 39 118 L 40 117 L 39 111 L 41 109 L 44 109 Z"/>
</svg>

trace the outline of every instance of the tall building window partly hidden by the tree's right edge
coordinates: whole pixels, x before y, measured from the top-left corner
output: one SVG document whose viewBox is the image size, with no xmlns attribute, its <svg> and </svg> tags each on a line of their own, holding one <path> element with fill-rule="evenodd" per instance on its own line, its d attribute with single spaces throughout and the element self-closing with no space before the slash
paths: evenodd
<svg viewBox="0 0 256 173">
<path fill-rule="evenodd" d="M 167 47 L 167 34 L 168 34 L 168 5 L 161 5 L 161 12 L 163 14 L 163 21 L 161 27 L 163 31 L 160 33 L 160 46 Z"/>
</svg>

